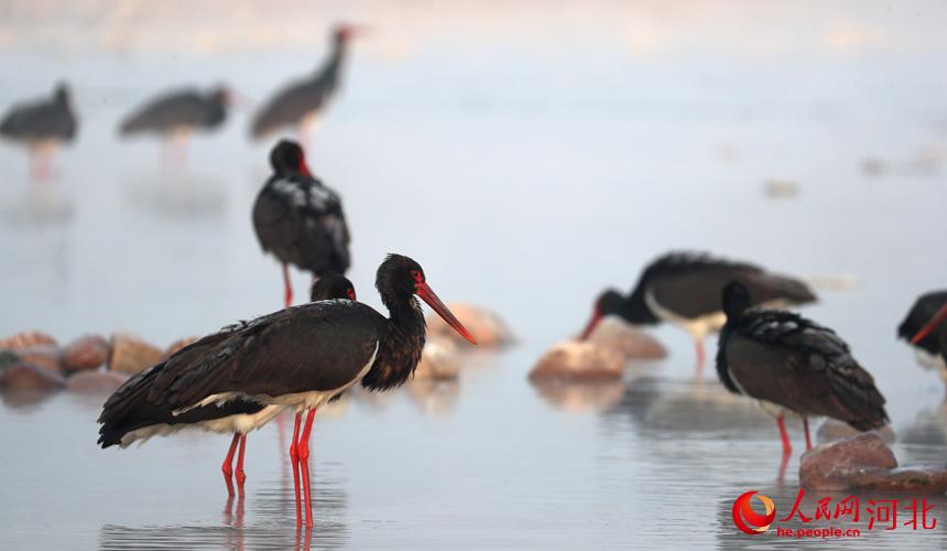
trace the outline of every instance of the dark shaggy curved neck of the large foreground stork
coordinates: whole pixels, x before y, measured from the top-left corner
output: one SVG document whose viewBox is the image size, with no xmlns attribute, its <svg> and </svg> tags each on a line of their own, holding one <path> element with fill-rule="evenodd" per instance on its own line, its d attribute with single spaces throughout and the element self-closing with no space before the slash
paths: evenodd
<svg viewBox="0 0 947 551">
<path fill-rule="evenodd" d="M 362 378 L 362 386 L 370 390 L 404 385 L 414 374 L 424 349 L 427 326 L 417 300 L 412 296 L 387 305 L 390 314 L 388 331 L 379 343 L 374 364 Z"/>
</svg>

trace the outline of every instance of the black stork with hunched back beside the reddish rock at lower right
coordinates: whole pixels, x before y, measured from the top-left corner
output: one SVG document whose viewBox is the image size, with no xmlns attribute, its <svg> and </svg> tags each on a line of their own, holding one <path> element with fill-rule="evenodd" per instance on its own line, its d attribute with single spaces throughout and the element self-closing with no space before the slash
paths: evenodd
<svg viewBox="0 0 947 551">
<path fill-rule="evenodd" d="M 798 314 L 752 309 L 752 291 L 733 281 L 722 291 L 727 323 L 720 331 L 717 375 L 733 393 L 748 396 L 776 418 L 783 457 L 793 446 L 783 418 L 830 417 L 859 431 L 888 422 L 884 397 L 832 329 Z"/>
</svg>

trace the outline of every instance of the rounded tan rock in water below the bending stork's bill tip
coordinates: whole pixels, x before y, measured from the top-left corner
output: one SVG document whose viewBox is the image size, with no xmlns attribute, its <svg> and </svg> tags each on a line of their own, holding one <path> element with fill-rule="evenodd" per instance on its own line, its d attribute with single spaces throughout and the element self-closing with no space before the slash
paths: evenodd
<svg viewBox="0 0 947 551">
<path fill-rule="evenodd" d="M 621 379 L 624 356 L 610 348 L 567 341 L 549 348 L 530 371 L 530 380 L 595 381 Z"/>
</svg>

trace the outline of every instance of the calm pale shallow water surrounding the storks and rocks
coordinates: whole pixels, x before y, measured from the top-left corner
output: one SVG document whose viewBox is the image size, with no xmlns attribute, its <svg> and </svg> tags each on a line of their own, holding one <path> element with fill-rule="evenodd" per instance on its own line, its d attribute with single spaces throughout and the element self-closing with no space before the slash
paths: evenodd
<svg viewBox="0 0 947 551">
<path fill-rule="evenodd" d="M 353 54 L 311 153 L 345 199 L 350 278 L 378 305 L 378 262 L 407 253 L 445 301 L 498 310 L 522 343 L 477 353 L 456 386 L 355 396 L 320 417 L 316 527 L 302 534 L 289 422 L 250 435 L 248 496 L 228 504 L 227 436 L 101 451 L 101 397 L 3 396 L 0 547 L 774 548 L 772 534 L 739 533 L 730 507 L 756 489 L 782 517 L 797 457 L 780 484 L 775 424 L 727 395 L 712 366 L 696 381 L 683 333 L 656 329 L 671 357 L 630 367 L 620 385 L 526 381 L 543 350 L 581 327 L 601 288 L 629 288 L 670 248 L 852 277 L 853 289 L 820 290 L 806 314 L 837 328 L 875 376 L 901 462 L 944 461 L 943 385 L 894 338 L 914 298 L 947 280 L 930 245 L 947 204 L 941 6 L 733 4 L 750 25 L 696 7 L 564 4 L 533 21 L 525 3 L 498 18 L 467 7 L 418 22 L 364 6 L 374 8 L 326 15 L 380 32 Z M 534 26 L 518 34 L 523 21 Z M 803 31 L 813 21 L 817 30 Z M 232 26 L 221 43 L 243 29 Z M 196 138 L 176 169 L 160 166 L 155 143 L 120 143 L 113 128 L 167 83 L 227 78 L 262 99 L 312 64 L 322 34 L 308 50 L 194 55 L 183 53 L 186 30 L 181 44 L 143 35 L 166 47 L 6 43 L 0 73 L 22 78 L 4 80 L 0 105 L 65 75 L 83 127 L 44 184 L 29 182 L 21 151 L 0 147 L 0 334 L 122 329 L 163 346 L 280 305 L 279 269 L 249 220 L 270 143 L 246 141 L 246 115 Z M 770 179 L 795 182 L 798 195 L 766 196 Z M 305 294 L 306 277 L 294 281 Z M 798 426 L 792 434 L 798 450 Z M 947 547 L 947 503 L 930 503 L 934 530 L 829 544 Z"/>
</svg>

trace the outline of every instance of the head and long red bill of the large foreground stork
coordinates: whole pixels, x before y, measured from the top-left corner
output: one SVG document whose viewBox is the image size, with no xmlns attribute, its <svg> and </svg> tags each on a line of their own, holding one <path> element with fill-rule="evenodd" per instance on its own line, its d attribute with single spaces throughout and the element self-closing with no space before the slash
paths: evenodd
<svg viewBox="0 0 947 551">
<path fill-rule="evenodd" d="M 391 311 L 396 311 L 412 301 L 416 295 L 427 303 L 447 325 L 459 333 L 470 344 L 476 345 L 477 339 L 467 331 L 457 317 L 440 302 L 440 299 L 427 284 L 424 269 L 414 260 L 402 255 L 389 255 L 384 262 L 378 267 L 378 277 L 374 287 L 378 288 L 381 300 Z M 415 303 L 416 304 L 416 303 Z"/>
</svg>

